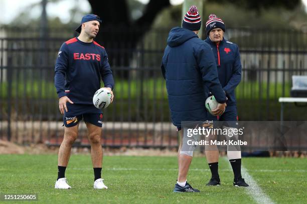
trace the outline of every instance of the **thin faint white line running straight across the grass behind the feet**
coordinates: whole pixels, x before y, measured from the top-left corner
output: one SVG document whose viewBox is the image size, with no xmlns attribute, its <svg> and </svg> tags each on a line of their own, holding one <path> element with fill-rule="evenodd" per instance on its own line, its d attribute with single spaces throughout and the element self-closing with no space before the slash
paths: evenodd
<svg viewBox="0 0 307 204">
<path fill-rule="evenodd" d="M 91 170 L 93 168 L 72 168 L 73 170 Z M 1 170 L 1 169 L 0 169 Z M 103 168 L 103 170 L 175 170 L 178 168 Z M 210 171 L 210 169 L 190 168 L 192 171 Z M 231 169 L 219 169 L 219 171 L 232 171 Z M 307 172 L 304 169 L 251 169 L 250 172 Z"/>
</svg>

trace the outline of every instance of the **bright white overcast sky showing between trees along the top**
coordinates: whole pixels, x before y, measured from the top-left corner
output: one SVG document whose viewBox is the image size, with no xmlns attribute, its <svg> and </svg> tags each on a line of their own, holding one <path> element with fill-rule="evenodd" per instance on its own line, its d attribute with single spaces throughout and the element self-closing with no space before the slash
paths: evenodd
<svg viewBox="0 0 307 204">
<path fill-rule="evenodd" d="M 41 14 L 41 7 L 30 6 L 34 3 L 39 3 L 41 0 L 0 0 L 0 23 L 11 22 L 20 12 L 25 9 L 31 10 L 32 17 L 38 17 Z M 149 0 L 139 0 L 147 3 Z M 170 0 L 172 4 L 182 3 L 184 0 Z M 307 5 L 307 0 L 302 0 Z M 59 16 L 63 22 L 69 21 L 69 10 L 74 6 L 75 0 L 61 0 L 58 3 L 48 3 L 47 13 L 50 17 Z M 90 12 L 90 5 L 87 0 L 79 0 L 79 5 L 82 11 Z M 307 11 L 307 7 L 306 7 Z"/>
</svg>

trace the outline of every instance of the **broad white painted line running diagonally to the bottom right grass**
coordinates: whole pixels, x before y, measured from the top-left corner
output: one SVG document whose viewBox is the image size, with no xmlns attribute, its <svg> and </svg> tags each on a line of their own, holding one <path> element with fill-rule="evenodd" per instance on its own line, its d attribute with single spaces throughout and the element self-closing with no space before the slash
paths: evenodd
<svg viewBox="0 0 307 204">
<path fill-rule="evenodd" d="M 227 157 L 223 157 L 229 163 Z M 231 164 L 229 163 L 231 167 Z M 273 204 L 274 202 L 271 198 L 262 191 L 262 189 L 258 186 L 257 182 L 253 179 L 253 177 L 247 172 L 244 166 L 241 166 L 241 173 L 246 182 L 249 184 L 249 187 L 244 187 L 247 191 L 247 194 L 250 195 L 257 203 L 266 203 Z"/>
</svg>

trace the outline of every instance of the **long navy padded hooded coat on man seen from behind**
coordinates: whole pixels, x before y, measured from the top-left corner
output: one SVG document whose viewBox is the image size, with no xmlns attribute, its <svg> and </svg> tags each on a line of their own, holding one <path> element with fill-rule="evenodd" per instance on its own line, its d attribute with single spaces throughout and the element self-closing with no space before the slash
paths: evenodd
<svg viewBox="0 0 307 204">
<path fill-rule="evenodd" d="M 209 90 L 218 102 L 226 101 L 211 47 L 193 31 L 180 27 L 171 29 L 167 43 L 161 67 L 174 125 L 207 120 Z"/>
</svg>

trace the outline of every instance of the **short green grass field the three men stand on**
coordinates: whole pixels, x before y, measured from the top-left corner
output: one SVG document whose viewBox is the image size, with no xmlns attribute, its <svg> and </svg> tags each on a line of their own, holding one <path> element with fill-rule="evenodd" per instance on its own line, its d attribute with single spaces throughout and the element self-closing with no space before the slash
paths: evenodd
<svg viewBox="0 0 307 204">
<path fill-rule="evenodd" d="M 54 189 L 55 154 L 0 155 L 0 163 L 0 193 L 37 193 L 39 203 L 256 203 L 251 187 L 232 186 L 226 158 L 219 162 L 221 186 L 209 187 L 205 185 L 210 178 L 206 160 L 194 157 L 188 181 L 200 193 L 172 192 L 177 178 L 175 156 L 105 156 L 102 177 L 107 190 L 93 189 L 89 155 L 71 156 L 66 170 L 69 190 Z M 242 164 L 272 202 L 307 203 L 305 158 L 243 158 Z"/>
</svg>

